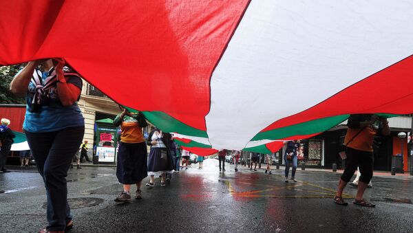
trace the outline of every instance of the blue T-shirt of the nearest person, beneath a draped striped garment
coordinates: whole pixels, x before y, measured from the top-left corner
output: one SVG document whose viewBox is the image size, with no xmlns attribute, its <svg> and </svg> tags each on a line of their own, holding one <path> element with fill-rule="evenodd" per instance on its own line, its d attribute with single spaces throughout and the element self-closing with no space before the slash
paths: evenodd
<svg viewBox="0 0 413 233">
<path fill-rule="evenodd" d="M 65 67 L 67 69 L 67 67 Z M 53 68 L 46 74 L 43 75 L 43 82 L 52 74 Z M 73 72 L 73 71 L 72 71 Z M 82 80 L 78 76 L 70 75 L 66 76 L 67 83 L 71 83 L 82 89 Z M 23 129 L 31 133 L 43 133 L 43 132 L 53 132 L 65 129 L 67 127 L 74 126 L 84 126 L 85 119 L 79 109 L 77 103 L 71 106 L 63 106 L 59 100 L 57 94 L 56 82 L 52 84 L 52 87 L 45 91 L 45 96 L 42 98 L 43 104 L 39 107 L 37 111 L 31 112 L 32 100 L 34 93 L 36 91 L 35 85 L 30 82 L 28 86 L 28 91 L 26 93 L 26 112 L 25 120 L 23 123 Z"/>
</svg>

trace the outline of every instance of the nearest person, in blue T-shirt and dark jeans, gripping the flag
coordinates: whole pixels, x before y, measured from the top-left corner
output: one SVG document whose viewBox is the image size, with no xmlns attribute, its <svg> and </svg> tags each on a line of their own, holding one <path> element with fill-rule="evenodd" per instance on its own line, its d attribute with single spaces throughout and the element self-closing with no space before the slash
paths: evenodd
<svg viewBox="0 0 413 233">
<path fill-rule="evenodd" d="M 23 129 L 45 183 L 48 225 L 40 232 L 73 228 L 66 177 L 85 133 L 76 104 L 81 89 L 81 76 L 62 58 L 30 61 L 10 83 L 12 93 L 25 96 Z"/>
</svg>

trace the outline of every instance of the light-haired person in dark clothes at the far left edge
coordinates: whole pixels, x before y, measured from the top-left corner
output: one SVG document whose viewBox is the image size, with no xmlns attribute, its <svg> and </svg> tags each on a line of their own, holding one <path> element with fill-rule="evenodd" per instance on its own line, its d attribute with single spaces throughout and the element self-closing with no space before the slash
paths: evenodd
<svg viewBox="0 0 413 233">
<path fill-rule="evenodd" d="M 6 160 L 10 154 L 10 149 L 14 143 L 13 138 L 16 137 L 13 131 L 8 127 L 10 120 L 3 118 L 0 124 L 0 172 L 8 173 L 6 169 Z"/>
</svg>

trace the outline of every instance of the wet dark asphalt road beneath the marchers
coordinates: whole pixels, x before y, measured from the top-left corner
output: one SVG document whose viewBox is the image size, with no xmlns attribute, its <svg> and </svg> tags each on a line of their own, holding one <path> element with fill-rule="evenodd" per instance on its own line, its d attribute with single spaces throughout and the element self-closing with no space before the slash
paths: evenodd
<svg viewBox="0 0 413 233">
<path fill-rule="evenodd" d="M 412 177 L 374 177 L 366 198 L 376 208 L 332 202 L 339 174 L 297 170 L 297 183 L 206 159 L 174 174 L 170 184 L 142 187 L 143 199 L 116 203 L 122 190 L 113 167 L 83 167 L 67 177 L 72 232 L 412 232 Z M 146 183 L 147 179 L 144 179 Z M 134 192 L 135 188 L 132 188 Z M 45 227 L 45 191 L 34 169 L 0 174 L 0 232 Z M 94 206 L 96 205 L 96 206 Z"/>
</svg>

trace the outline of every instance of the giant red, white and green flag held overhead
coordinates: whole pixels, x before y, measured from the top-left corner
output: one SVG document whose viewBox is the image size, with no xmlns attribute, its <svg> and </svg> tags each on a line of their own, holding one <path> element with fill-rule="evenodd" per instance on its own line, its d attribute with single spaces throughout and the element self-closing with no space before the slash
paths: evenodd
<svg viewBox="0 0 413 233">
<path fill-rule="evenodd" d="M 409 1 L 0 0 L 0 64 L 63 57 L 197 154 L 413 112 Z"/>
</svg>

